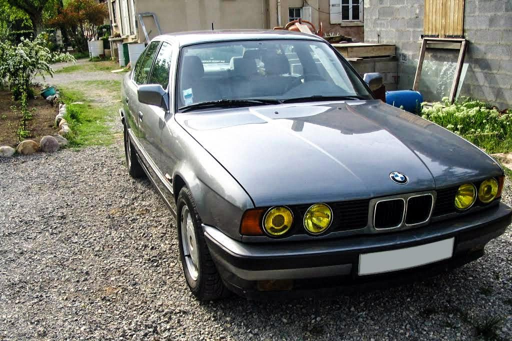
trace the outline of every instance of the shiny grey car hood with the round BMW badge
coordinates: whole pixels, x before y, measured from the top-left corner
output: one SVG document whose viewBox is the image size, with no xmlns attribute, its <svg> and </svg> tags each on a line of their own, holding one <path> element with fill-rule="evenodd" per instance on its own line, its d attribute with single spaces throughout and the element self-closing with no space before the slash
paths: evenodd
<svg viewBox="0 0 512 341">
<path fill-rule="evenodd" d="M 477 147 L 379 100 L 181 113 L 256 206 L 364 199 L 499 176 Z M 409 178 L 390 179 L 391 172 Z"/>
</svg>

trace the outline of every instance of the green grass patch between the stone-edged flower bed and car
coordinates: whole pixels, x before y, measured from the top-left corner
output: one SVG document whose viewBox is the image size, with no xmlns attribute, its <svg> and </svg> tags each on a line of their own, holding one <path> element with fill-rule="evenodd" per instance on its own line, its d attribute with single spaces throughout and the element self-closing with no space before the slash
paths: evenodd
<svg viewBox="0 0 512 341">
<path fill-rule="evenodd" d="M 109 145 L 121 137 L 115 129 L 120 86 L 120 80 L 83 80 L 59 88 L 67 104 L 72 146 Z"/>
</svg>

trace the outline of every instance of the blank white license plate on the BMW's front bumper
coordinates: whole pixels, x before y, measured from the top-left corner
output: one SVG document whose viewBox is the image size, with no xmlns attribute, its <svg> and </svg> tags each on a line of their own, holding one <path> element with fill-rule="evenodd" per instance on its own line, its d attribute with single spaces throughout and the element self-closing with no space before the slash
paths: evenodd
<svg viewBox="0 0 512 341">
<path fill-rule="evenodd" d="M 359 275 L 414 268 L 449 259 L 455 238 L 390 251 L 359 255 Z"/>
</svg>

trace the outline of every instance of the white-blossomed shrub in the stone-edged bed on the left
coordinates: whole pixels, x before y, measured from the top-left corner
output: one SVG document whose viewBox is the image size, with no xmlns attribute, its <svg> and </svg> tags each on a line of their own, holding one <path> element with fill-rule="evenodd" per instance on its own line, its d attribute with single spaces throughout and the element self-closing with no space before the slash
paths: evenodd
<svg viewBox="0 0 512 341">
<path fill-rule="evenodd" d="M 35 76 L 53 76 L 50 63 L 75 60 L 69 53 L 52 53 L 46 44 L 42 35 L 34 40 L 22 38 L 18 45 L 0 41 L 0 80 L 7 82 L 15 98 L 30 93 Z"/>
</svg>

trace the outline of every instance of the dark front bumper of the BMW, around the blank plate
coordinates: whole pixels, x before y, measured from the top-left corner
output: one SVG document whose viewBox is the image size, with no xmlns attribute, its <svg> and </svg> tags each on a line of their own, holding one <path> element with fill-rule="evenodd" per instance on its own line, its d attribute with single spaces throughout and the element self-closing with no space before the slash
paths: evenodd
<svg viewBox="0 0 512 341">
<path fill-rule="evenodd" d="M 403 282 L 408 276 L 439 273 L 481 257 L 485 244 L 502 235 L 511 220 L 512 211 L 500 203 L 472 215 L 417 229 L 343 239 L 249 244 L 233 240 L 215 227 L 203 225 L 203 229 L 224 283 L 250 297 L 266 290 L 260 284 L 267 281 L 286 282 L 285 289 L 309 290 L 308 287 L 392 284 Z M 452 237 L 455 238 L 453 256 L 448 260 L 385 274 L 358 275 L 361 253 L 407 248 Z"/>
</svg>

